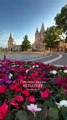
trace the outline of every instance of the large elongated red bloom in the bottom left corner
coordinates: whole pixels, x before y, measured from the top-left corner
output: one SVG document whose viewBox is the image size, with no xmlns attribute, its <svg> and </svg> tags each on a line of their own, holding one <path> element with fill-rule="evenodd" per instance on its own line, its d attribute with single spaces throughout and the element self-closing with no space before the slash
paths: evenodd
<svg viewBox="0 0 67 120">
<path fill-rule="evenodd" d="M 0 120 L 4 120 L 5 119 L 7 111 L 8 111 L 8 105 L 6 104 L 6 102 L 4 102 L 0 106 Z"/>
</svg>

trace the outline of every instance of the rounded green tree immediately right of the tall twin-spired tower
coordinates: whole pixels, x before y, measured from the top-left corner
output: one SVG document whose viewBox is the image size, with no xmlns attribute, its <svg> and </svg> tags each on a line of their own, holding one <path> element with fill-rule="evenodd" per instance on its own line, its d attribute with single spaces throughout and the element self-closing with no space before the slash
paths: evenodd
<svg viewBox="0 0 67 120">
<path fill-rule="evenodd" d="M 56 48 L 58 45 L 58 40 L 60 38 L 60 34 L 62 33 L 61 29 L 58 29 L 55 26 L 47 28 L 45 34 L 44 34 L 44 43 L 46 48 Z"/>
</svg>

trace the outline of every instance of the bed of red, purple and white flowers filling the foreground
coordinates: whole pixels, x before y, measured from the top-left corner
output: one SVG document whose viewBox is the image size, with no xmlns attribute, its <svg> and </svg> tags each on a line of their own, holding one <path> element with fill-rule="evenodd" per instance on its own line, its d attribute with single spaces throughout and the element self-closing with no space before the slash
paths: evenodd
<svg viewBox="0 0 67 120">
<path fill-rule="evenodd" d="M 67 120 L 67 67 L 0 60 L 0 120 Z"/>
</svg>

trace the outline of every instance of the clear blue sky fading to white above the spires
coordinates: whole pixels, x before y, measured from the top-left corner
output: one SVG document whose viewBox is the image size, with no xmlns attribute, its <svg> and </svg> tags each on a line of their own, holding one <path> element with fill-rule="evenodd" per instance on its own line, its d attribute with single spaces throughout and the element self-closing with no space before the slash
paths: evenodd
<svg viewBox="0 0 67 120">
<path fill-rule="evenodd" d="M 0 47 L 7 47 L 10 32 L 16 44 L 21 44 L 25 35 L 31 44 L 35 40 L 36 27 L 42 22 L 45 29 L 55 24 L 67 0 L 0 0 Z"/>
</svg>

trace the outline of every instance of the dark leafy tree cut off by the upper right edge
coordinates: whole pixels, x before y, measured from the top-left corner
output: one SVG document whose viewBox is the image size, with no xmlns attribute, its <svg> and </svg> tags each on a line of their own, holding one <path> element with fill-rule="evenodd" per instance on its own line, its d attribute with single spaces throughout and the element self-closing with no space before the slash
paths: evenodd
<svg viewBox="0 0 67 120">
<path fill-rule="evenodd" d="M 63 32 L 67 30 L 67 4 L 61 9 L 55 17 L 56 25 L 63 29 Z"/>
</svg>

